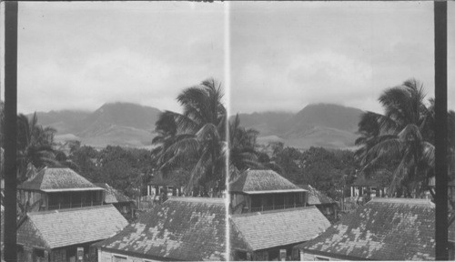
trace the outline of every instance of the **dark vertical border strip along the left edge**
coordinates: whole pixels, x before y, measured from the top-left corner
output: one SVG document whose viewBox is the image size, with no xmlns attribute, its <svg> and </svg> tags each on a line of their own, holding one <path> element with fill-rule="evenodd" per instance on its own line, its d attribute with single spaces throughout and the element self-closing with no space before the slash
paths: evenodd
<svg viewBox="0 0 455 262">
<path fill-rule="evenodd" d="M 5 1 L 5 261 L 16 261 L 17 2 Z"/>
</svg>

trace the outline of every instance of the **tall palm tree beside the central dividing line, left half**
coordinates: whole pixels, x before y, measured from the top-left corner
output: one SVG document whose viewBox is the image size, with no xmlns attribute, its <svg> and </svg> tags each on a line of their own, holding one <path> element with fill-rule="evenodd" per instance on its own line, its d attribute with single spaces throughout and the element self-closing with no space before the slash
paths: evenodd
<svg viewBox="0 0 455 262">
<path fill-rule="evenodd" d="M 187 166 L 187 192 L 224 189 L 226 177 L 226 108 L 222 88 L 214 79 L 186 88 L 177 96 L 183 113 L 166 111 L 157 121 L 160 174 Z"/>
</svg>

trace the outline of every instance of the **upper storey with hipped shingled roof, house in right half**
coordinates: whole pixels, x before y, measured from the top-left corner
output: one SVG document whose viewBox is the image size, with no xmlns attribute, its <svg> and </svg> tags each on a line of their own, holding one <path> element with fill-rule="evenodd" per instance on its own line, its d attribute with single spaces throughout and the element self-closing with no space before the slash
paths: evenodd
<svg viewBox="0 0 455 262">
<path fill-rule="evenodd" d="M 307 206 L 307 190 L 272 170 L 244 171 L 228 188 L 232 214 Z"/>
</svg>

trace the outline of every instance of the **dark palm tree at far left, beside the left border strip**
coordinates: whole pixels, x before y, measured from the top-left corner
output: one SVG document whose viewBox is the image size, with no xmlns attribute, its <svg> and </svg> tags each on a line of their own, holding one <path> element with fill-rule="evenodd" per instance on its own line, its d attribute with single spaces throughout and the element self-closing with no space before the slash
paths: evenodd
<svg viewBox="0 0 455 262">
<path fill-rule="evenodd" d="M 27 166 L 36 168 L 58 165 L 54 155 L 54 134 L 56 129 L 37 124 L 36 113 L 32 118 L 19 114 L 17 116 L 17 173 L 18 182 L 27 178 Z"/>
</svg>

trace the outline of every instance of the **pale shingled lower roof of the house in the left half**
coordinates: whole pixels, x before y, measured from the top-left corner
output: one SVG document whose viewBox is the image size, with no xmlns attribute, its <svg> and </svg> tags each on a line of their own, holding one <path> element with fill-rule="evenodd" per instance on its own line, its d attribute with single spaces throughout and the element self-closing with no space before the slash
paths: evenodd
<svg viewBox="0 0 455 262">
<path fill-rule="evenodd" d="M 17 230 L 17 242 L 66 247 L 112 237 L 127 224 L 112 205 L 28 213 Z"/>
</svg>

